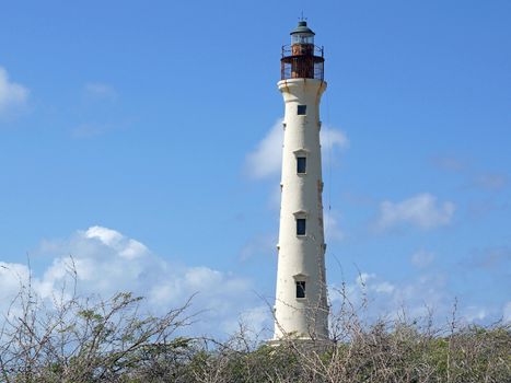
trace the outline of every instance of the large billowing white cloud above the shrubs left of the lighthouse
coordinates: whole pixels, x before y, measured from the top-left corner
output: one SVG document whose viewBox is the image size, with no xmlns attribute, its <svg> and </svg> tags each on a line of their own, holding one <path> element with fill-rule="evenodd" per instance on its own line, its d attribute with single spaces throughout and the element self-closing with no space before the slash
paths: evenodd
<svg viewBox="0 0 511 383">
<path fill-rule="evenodd" d="M 194 295 L 190 312 L 201 312 L 194 325 L 196 334 L 227 334 L 240 315 L 260 305 L 249 280 L 206 266 L 174 264 L 139 241 L 103 227 L 78 231 L 66 240 L 45 241 L 37 253 L 53 258 L 32 279 L 35 291 L 48 302 L 62 286 L 72 285 L 70 271 L 74 269 L 80 294 L 107 299 L 130 291 L 146 297 L 146 309 L 156 314 L 181 306 Z M 0 263 L 0 302 L 10 302 L 27 279 L 26 266 Z M 0 309 L 4 312 L 7 306 Z M 260 317 L 252 322 L 260 324 Z"/>
</svg>

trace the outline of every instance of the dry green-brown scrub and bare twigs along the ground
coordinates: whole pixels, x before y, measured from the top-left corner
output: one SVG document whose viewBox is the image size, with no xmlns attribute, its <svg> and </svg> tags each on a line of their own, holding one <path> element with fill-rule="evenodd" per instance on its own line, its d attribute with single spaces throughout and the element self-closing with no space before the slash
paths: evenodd
<svg viewBox="0 0 511 383">
<path fill-rule="evenodd" d="M 22 288 L 0 328 L 1 382 L 511 382 L 506 324 L 367 326 L 345 302 L 330 340 L 269 346 L 243 325 L 225 341 L 178 336 L 194 320 L 188 304 L 156 317 L 130 293 L 98 303 L 66 295 L 48 309 Z"/>
</svg>

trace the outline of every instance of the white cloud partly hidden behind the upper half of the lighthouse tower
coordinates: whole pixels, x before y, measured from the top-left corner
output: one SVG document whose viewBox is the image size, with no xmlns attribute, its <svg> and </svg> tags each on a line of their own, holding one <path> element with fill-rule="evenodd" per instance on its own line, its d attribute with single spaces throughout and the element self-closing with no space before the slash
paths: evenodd
<svg viewBox="0 0 511 383">
<path fill-rule="evenodd" d="M 323 155 L 335 148 L 349 146 L 346 134 L 341 130 L 324 126 L 320 135 Z M 254 151 L 246 156 L 247 173 L 253 178 L 266 178 L 280 174 L 282 165 L 283 129 L 282 119 L 278 119 L 268 134 L 259 141 Z M 324 159 L 326 162 L 328 159 Z"/>
</svg>

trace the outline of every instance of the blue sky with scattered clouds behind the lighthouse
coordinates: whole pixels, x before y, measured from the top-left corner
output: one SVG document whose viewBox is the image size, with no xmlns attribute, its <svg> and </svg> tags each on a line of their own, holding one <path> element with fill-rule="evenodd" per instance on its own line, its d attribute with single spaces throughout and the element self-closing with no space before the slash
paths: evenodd
<svg viewBox="0 0 511 383">
<path fill-rule="evenodd" d="M 365 281 L 374 314 L 443 320 L 457 298 L 468 321 L 510 320 L 504 0 L 3 4 L 0 298 L 27 254 L 43 293 L 72 254 L 85 292 L 199 291 L 199 330 L 267 324 L 276 83 L 302 10 L 326 55 L 329 282 L 357 300 Z"/>
</svg>

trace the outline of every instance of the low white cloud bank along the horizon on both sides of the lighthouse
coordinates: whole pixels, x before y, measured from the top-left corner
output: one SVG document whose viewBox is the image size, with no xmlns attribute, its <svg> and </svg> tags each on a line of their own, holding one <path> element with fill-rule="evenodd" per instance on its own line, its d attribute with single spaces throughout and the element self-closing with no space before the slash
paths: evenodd
<svg viewBox="0 0 511 383">
<path fill-rule="evenodd" d="M 72 254 L 72 258 L 69 256 Z M 47 304 L 59 297 L 62 286 L 72 286 L 71 267 L 77 271 L 78 292 L 82 297 L 108 299 L 119 291 L 146 297 L 142 309 L 154 313 L 179 307 L 191 295 L 190 313 L 200 312 L 190 335 L 222 337 L 237 329 L 242 320 L 254 332 L 270 336 L 272 317 L 262 299 L 254 292 L 260 290 L 252 279 L 241 278 L 208 266 L 186 266 L 153 254 L 143 243 L 123 233 L 91 227 L 79 230 L 67 239 L 44 241 L 37 256 L 49 256 L 51 262 L 34 272 L 26 265 L 0 262 L 0 313 L 8 312 L 10 303 L 26 286 L 32 272 L 32 286 Z M 425 267 L 433 255 L 420 251 L 411 262 Z M 402 281 L 385 280 L 375 272 L 362 271 L 345 285 L 330 286 L 329 299 L 334 313 L 347 297 L 355 306 L 368 302 L 360 312 L 371 322 L 378 317 L 393 317 L 405 312 L 409 317 L 423 317 L 430 310 L 437 322 L 449 317 L 454 295 L 449 292 L 449 275 L 432 269 Z M 69 290 L 68 290 L 69 291 Z M 270 303 L 271 299 L 269 298 Z M 511 321 L 511 305 L 498 307 L 472 304 L 460 307 L 460 317 L 468 322 L 488 321 L 501 316 Z M 15 307 L 14 307 L 15 309 Z M 16 315 L 11 310 L 11 315 Z"/>
</svg>

